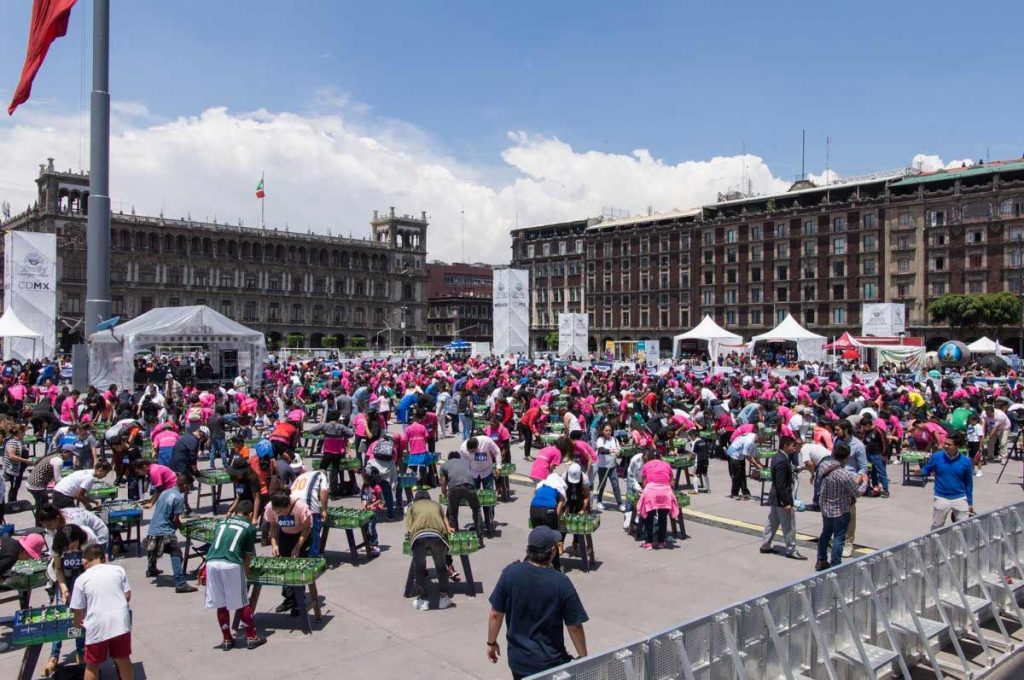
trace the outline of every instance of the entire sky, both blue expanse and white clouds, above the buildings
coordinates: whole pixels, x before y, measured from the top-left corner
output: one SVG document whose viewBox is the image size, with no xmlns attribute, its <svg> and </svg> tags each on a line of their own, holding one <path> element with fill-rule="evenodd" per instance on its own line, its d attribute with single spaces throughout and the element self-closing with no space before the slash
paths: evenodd
<svg viewBox="0 0 1024 680">
<path fill-rule="evenodd" d="M 819 182 L 1024 152 L 1004 0 L 113 4 L 125 212 L 256 226 L 265 175 L 268 228 L 362 238 L 374 209 L 425 210 L 431 258 L 507 263 L 517 225 L 785 190 L 802 130 Z M 0 3 L 4 109 L 30 12 Z M 47 157 L 88 167 L 91 19 L 79 0 L 0 119 L 14 213 Z"/>
</svg>

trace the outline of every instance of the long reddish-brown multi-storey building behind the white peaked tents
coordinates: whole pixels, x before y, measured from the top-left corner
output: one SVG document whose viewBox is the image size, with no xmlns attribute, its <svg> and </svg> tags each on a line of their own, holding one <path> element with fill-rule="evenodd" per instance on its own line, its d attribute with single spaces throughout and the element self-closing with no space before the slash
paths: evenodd
<svg viewBox="0 0 1024 680">
<path fill-rule="evenodd" d="M 1024 161 L 890 173 L 694 210 L 513 231 L 530 271 L 534 349 L 559 311 L 586 311 L 593 351 L 657 339 L 705 314 L 744 337 L 792 313 L 826 337 L 858 330 L 865 302 L 906 305 L 929 348 L 955 337 L 928 306 L 946 293 L 1022 294 Z M 987 331 L 986 331 L 987 332 Z M 1016 347 L 1020 331 L 1001 340 Z"/>
</svg>

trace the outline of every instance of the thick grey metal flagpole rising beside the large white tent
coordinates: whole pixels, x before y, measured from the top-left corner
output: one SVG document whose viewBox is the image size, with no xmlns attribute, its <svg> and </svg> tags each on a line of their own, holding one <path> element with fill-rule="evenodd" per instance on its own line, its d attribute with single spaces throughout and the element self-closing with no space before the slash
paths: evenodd
<svg viewBox="0 0 1024 680">
<path fill-rule="evenodd" d="M 111 2 L 92 4 L 92 94 L 89 109 L 89 216 L 86 226 L 85 341 L 111 317 Z M 85 385 L 89 357 L 80 350 L 75 382 Z"/>
</svg>

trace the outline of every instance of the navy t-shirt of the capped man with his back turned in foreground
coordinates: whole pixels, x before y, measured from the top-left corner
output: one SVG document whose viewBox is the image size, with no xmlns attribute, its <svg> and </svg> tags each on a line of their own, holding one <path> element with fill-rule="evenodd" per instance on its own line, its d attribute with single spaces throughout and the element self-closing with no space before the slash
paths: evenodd
<svg viewBox="0 0 1024 680">
<path fill-rule="evenodd" d="M 570 661 L 563 627 L 589 620 L 568 577 L 527 561 L 505 567 L 490 593 L 490 606 L 505 614 L 509 669 L 515 677 Z"/>
</svg>

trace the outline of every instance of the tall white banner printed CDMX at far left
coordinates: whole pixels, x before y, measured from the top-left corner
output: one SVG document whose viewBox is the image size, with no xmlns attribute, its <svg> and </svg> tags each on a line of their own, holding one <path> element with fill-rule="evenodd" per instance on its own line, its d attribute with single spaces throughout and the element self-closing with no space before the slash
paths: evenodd
<svg viewBox="0 0 1024 680">
<path fill-rule="evenodd" d="M 56 353 L 57 237 L 8 231 L 4 238 L 4 311 L 42 338 L 4 338 L 4 360 L 52 358 Z"/>
</svg>

